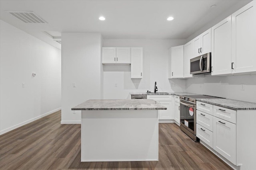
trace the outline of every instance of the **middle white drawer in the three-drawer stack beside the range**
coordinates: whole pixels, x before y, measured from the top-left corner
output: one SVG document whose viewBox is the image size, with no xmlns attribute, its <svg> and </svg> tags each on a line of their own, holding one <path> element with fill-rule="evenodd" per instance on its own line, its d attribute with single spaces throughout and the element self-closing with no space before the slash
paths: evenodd
<svg viewBox="0 0 256 170">
<path fill-rule="evenodd" d="M 196 123 L 208 129 L 209 131 L 212 131 L 213 129 L 212 120 L 213 120 L 212 115 L 196 110 Z"/>
</svg>

